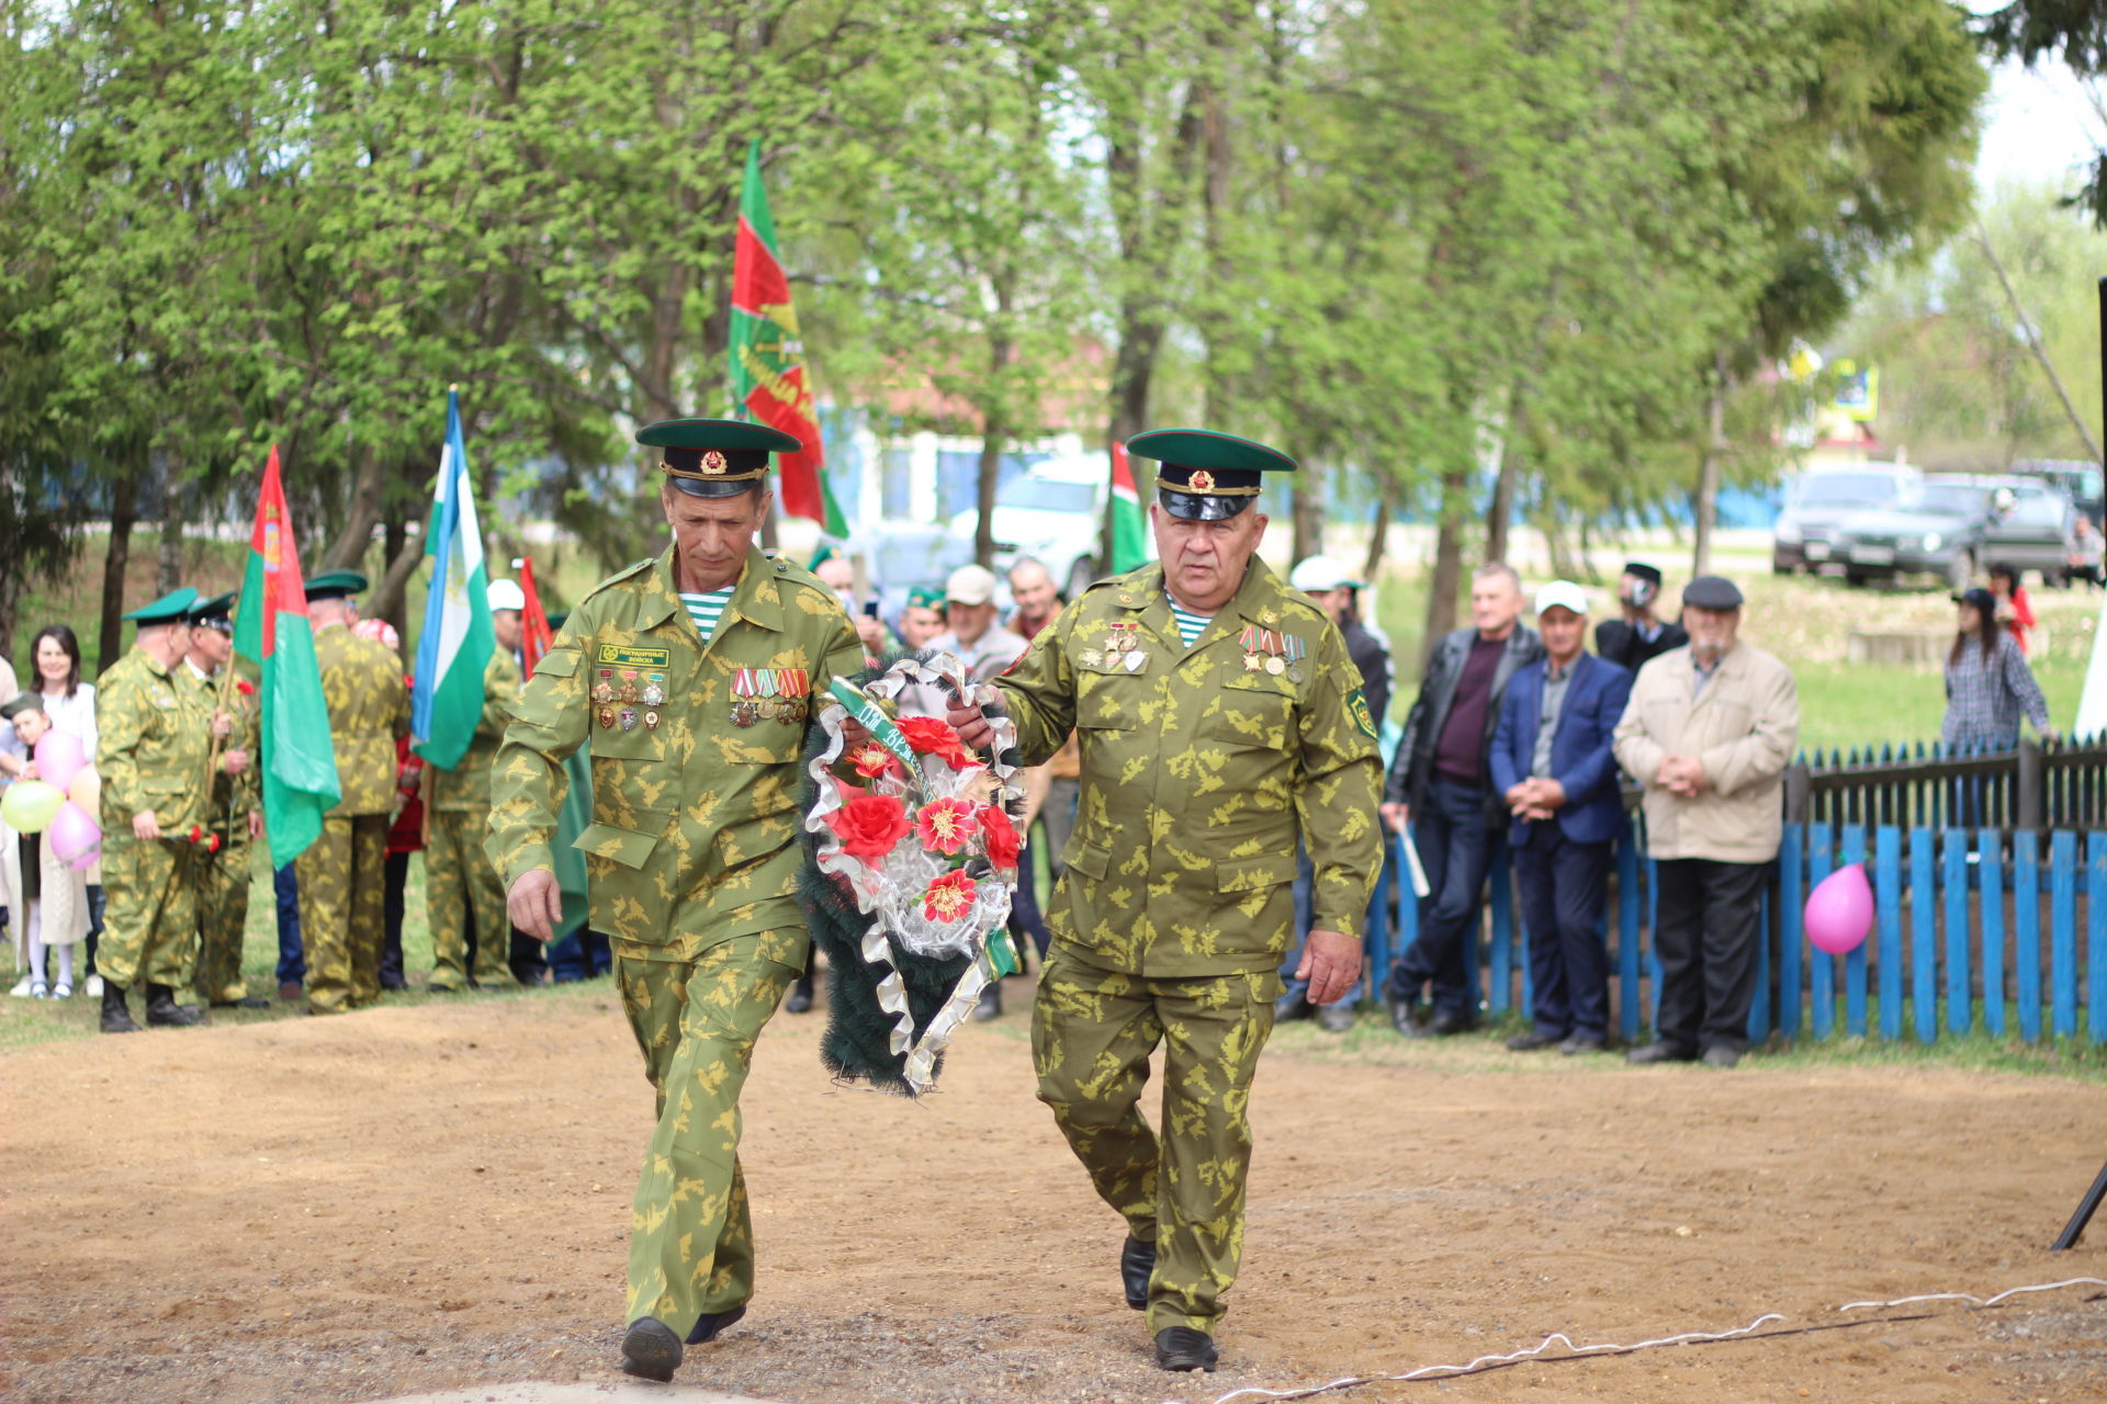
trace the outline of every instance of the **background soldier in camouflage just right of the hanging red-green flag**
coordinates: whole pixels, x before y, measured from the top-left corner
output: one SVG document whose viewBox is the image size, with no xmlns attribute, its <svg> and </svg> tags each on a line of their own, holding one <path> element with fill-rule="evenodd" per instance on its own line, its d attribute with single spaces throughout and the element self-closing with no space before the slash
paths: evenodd
<svg viewBox="0 0 2107 1404">
<path fill-rule="evenodd" d="M 358 619 L 352 596 L 365 589 L 367 577 L 356 570 L 327 570 L 308 581 L 314 661 L 343 791 L 322 817 L 322 836 L 293 859 L 314 1015 L 341 1015 L 381 998 L 388 810 L 396 737 L 409 733 L 409 688 L 402 659 L 388 644 L 352 634 Z"/>
</svg>

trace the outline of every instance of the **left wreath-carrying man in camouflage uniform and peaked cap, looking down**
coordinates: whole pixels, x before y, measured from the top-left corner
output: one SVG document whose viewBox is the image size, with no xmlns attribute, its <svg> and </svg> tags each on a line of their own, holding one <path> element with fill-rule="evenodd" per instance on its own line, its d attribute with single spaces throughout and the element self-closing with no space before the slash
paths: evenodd
<svg viewBox="0 0 2107 1404">
<path fill-rule="evenodd" d="M 535 667 L 491 770 L 489 853 L 512 924 L 548 941 L 558 777 L 592 737 L 594 823 L 575 848 L 657 1092 L 622 1368 L 664 1381 L 683 1339 L 714 1339 L 754 1290 L 740 1088 L 811 951 L 796 901 L 805 728 L 864 646 L 834 591 L 752 545 L 773 505 L 769 453 L 799 440 L 723 419 L 636 438 L 664 450 L 672 549 L 603 581 Z"/>
</svg>

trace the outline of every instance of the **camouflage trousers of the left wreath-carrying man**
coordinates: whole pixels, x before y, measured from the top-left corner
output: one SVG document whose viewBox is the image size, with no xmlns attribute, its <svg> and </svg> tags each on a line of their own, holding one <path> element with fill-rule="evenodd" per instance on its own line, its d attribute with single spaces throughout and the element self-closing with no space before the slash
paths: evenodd
<svg viewBox="0 0 2107 1404">
<path fill-rule="evenodd" d="M 657 1090 L 630 1217 L 628 1316 L 687 1337 L 754 1295 L 754 1225 L 740 1166 L 740 1088 L 754 1038 L 799 975 L 803 930 L 737 937 L 693 962 L 615 958 L 622 1008 Z M 780 960 L 771 958 L 780 956 Z"/>
</svg>

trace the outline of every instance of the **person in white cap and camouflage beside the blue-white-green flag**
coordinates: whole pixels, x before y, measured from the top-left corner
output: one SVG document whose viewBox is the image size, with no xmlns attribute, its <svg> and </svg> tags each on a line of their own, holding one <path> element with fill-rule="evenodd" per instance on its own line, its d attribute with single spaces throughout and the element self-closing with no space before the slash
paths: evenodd
<svg viewBox="0 0 2107 1404">
<path fill-rule="evenodd" d="M 510 594 L 501 587 L 510 585 Z M 424 909 L 432 924 L 430 989 L 512 983 L 512 922 L 506 918 L 506 888 L 497 867 L 485 857 L 491 827 L 491 762 L 520 697 L 520 587 L 493 581 L 489 587 L 491 629 L 497 646 L 483 665 L 483 716 L 461 762 L 453 770 L 428 766 L 424 840 Z M 468 970 L 468 926 L 476 922 L 476 968 Z"/>
</svg>

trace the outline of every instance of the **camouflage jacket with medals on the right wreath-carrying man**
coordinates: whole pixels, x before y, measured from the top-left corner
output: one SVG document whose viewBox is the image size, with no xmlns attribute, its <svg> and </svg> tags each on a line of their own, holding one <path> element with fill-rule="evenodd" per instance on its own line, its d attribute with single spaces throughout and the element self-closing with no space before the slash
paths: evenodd
<svg viewBox="0 0 2107 1404">
<path fill-rule="evenodd" d="M 1359 937 L 1382 867 L 1376 720 L 1346 642 L 1262 562 L 1190 648 L 1163 568 L 1100 581 L 997 680 L 1024 764 L 1081 741 L 1047 918 L 1089 964 L 1258 972 L 1294 943 L 1296 838 L 1315 924 Z"/>
</svg>

